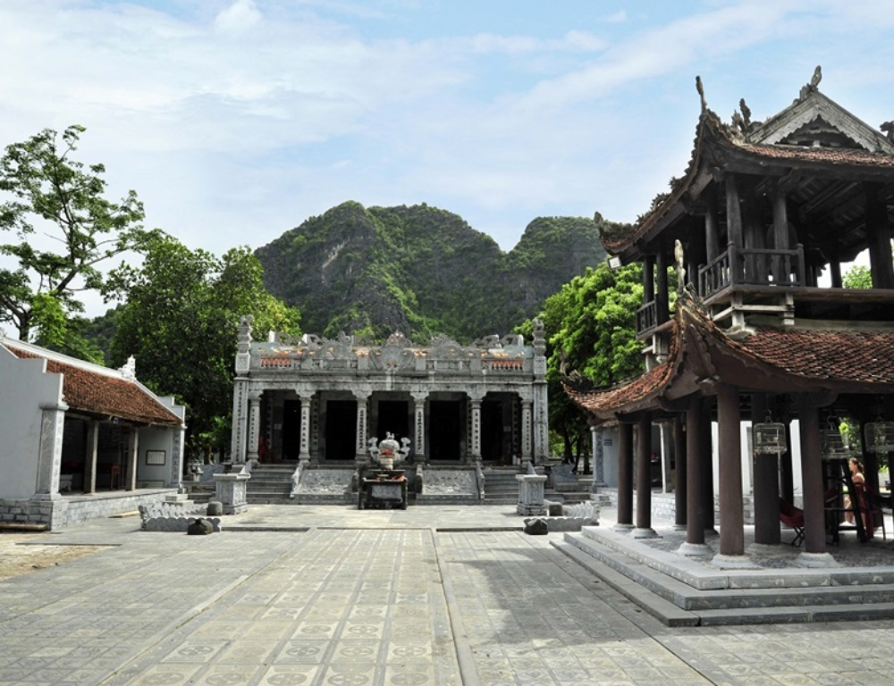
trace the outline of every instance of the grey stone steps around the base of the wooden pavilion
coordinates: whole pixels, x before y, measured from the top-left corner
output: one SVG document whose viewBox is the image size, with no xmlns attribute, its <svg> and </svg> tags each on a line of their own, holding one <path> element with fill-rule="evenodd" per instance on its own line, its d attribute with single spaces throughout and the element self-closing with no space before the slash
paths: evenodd
<svg viewBox="0 0 894 686">
<path fill-rule="evenodd" d="M 597 527 L 552 545 L 669 626 L 894 617 L 894 567 L 721 570 Z"/>
</svg>

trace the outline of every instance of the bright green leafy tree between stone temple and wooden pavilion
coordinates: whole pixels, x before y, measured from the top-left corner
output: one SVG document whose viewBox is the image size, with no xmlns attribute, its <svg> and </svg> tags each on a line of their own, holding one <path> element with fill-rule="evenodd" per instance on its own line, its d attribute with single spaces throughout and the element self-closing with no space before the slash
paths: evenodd
<svg viewBox="0 0 894 686">
<path fill-rule="evenodd" d="M 642 266 L 612 272 L 601 264 L 547 298 L 541 318 L 547 337 L 550 429 L 567 461 L 586 452 L 586 417 L 561 388 L 562 367 L 596 386 L 611 386 L 643 371 L 637 309 L 643 304 Z"/>
</svg>

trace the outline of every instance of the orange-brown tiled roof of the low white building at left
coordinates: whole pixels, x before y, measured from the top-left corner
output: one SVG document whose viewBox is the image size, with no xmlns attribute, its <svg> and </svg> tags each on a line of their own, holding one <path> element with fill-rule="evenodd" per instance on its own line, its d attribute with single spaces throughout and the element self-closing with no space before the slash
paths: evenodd
<svg viewBox="0 0 894 686">
<path fill-rule="evenodd" d="M 44 357 L 13 345 L 5 347 L 17 357 Z M 107 414 L 131 422 L 166 425 L 182 423 L 180 417 L 138 383 L 110 373 L 92 371 L 86 364 L 66 364 L 49 356 L 45 359 L 47 372 L 63 374 L 63 399 L 72 410 Z"/>
</svg>

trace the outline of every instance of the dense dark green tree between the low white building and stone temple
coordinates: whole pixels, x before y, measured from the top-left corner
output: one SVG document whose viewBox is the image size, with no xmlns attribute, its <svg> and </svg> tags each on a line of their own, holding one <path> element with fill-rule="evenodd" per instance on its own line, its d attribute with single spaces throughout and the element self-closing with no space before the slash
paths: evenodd
<svg viewBox="0 0 894 686">
<path fill-rule="evenodd" d="M 223 257 L 158 238 L 141 268 L 119 267 L 108 296 L 126 297 L 112 339 L 115 366 L 137 359 L 140 381 L 187 406 L 187 449 L 225 448 L 232 413 L 236 333 L 242 314 L 257 331 L 299 333 L 299 313 L 267 293 L 248 247 Z"/>
</svg>

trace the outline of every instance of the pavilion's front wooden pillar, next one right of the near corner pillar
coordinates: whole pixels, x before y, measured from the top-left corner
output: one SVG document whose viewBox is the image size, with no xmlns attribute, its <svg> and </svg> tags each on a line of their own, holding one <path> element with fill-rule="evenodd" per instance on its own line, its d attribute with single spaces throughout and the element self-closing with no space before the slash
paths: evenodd
<svg viewBox="0 0 894 686">
<path fill-rule="evenodd" d="M 804 551 L 826 552 L 825 504 L 820 457 L 820 414 L 809 396 L 800 398 L 801 484 L 804 489 Z"/>
</svg>

